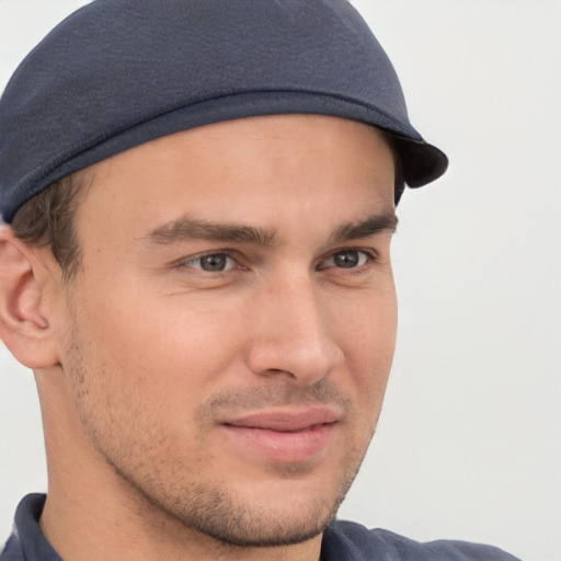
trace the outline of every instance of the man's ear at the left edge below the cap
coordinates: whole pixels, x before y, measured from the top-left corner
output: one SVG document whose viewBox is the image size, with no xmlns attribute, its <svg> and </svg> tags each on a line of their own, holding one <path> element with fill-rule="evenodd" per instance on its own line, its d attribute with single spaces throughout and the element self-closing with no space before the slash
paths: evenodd
<svg viewBox="0 0 561 561">
<path fill-rule="evenodd" d="M 57 345 L 44 311 L 49 275 L 37 250 L 0 227 L 0 339 L 12 355 L 33 369 L 58 364 Z"/>
</svg>

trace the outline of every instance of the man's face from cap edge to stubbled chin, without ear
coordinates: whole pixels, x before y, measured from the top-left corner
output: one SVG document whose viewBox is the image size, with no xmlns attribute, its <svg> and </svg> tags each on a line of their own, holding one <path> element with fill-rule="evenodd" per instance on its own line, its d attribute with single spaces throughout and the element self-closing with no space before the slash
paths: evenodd
<svg viewBox="0 0 561 561">
<path fill-rule="evenodd" d="M 76 425 L 102 460 L 84 469 L 124 482 L 99 492 L 231 543 L 317 535 L 364 457 L 393 354 L 381 135 L 247 118 L 91 178 L 58 333 Z"/>
</svg>

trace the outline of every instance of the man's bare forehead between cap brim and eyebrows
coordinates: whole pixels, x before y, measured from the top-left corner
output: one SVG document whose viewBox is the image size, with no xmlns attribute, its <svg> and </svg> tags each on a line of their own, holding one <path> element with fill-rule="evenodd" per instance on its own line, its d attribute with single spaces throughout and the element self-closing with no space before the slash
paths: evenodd
<svg viewBox="0 0 561 561">
<path fill-rule="evenodd" d="M 312 218 L 328 198 L 352 208 L 348 197 L 358 191 L 392 208 L 393 172 L 383 134 L 369 125 L 322 115 L 249 117 L 165 136 L 93 165 L 78 221 L 152 228 L 196 210 L 244 222 L 278 218 L 295 202 Z"/>
</svg>

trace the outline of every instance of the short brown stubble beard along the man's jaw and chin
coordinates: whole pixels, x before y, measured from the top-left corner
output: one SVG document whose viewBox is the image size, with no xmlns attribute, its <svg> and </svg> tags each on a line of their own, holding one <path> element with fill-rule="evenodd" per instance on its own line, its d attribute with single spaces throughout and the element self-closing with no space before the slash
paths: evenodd
<svg viewBox="0 0 561 561">
<path fill-rule="evenodd" d="M 344 455 L 339 478 L 325 485 L 321 496 L 308 501 L 305 508 L 301 505 L 299 508 L 286 507 L 287 504 L 264 505 L 266 501 L 250 504 L 245 497 L 237 495 L 236 490 L 228 489 L 228 482 L 196 482 L 195 477 L 190 477 L 201 466 L 193 469 L 178 461 L 173 453 L 175 443 L 169 442 L 169 435 L 163 430 L 160 433 L 154 430 L 152 434 L 145 434 L 135 442 L 130 440 L 130 434 L 128 440 L 111 435 L 114 423 L 107 422 L 103 413 L 100 413 L 100 401 L 92 400 L 91 394 L 94 392 L 89 387 L 92 385 L 89 379 L 92 371 L 101 374 L 101 379 L 105 379 L 107 375 L 102 371 L 106 365 L 98 363 L 95 368 L 88 368 L 83 353 L 88 353 L 85 348 L 90 345 L 80 340 L 78 330 L 72 331 L 67 374 L 75 380 L 75 402 L 84 432 L 106 463 L 134 491 L 131 495 L 138 499 L 140 512 L 146 513 L 147 518 L 153 518 L 152 515 L 157 513 L 157 517 L 162 519 L 163 515 L 170 522 L 180 523 L 185 529 L 207 536 L 216 540 L 219 547 L 226 548 L 271 548 L 301 543 L 320 535 L 334 519 L 358 472 L 376 423 L 364 440 L 358 445 L 355 443 Z M 316 393 L 322 391 L 325 392 L 325 389 Z M 330 390 L 327 392 L 329 394 Z M 230 398 L 236 399 L 234 396 Z M 114 410 L 118 411 L 118 408 Z M 142 419 L 144 413 L 138 407 L 133 419 Z M 115 412 L 112 414 L 118 415 Z M 117 420 L 117 426 L 124 424 L 126 420 L 125 423 Z M 298 470 L 297 466 L 279 468 L 279 477 L 297 479 L 301 476 Z M 286 499 L 288 503 L 290 497 Z"/>
</svg>

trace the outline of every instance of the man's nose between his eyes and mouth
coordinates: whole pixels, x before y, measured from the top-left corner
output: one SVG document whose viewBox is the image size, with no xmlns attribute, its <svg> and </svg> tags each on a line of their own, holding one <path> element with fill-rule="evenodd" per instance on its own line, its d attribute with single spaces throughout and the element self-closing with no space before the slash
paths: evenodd
<svg viewBox="0 0 561 561">
<path fill-rule="evenodd" d="M 267 286 L 251 306 L 251 370 L 261 376 L 284 374 L 301 386 L 328 376 L 344 358 L 330 330 L 330 316 L 307 277 Z"/>
</svg>

